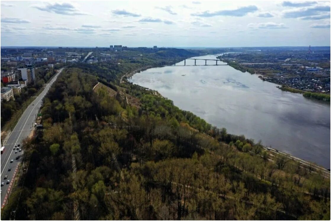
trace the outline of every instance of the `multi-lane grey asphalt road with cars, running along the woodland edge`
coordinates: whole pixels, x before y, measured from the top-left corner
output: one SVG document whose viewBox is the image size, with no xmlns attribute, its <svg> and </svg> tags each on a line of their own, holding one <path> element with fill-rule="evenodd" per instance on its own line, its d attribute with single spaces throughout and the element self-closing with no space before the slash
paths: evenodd
<svg viewBox="0 0 331 221">
<path fill-rule="evenodd" d="M 46 84 L 44 90 L 39 94 L 39 96 L 36 97 L 36 99 L 26 108 L 4 145 L 5 151 L 3 154 L 1 154 L 0 167 L 0 183 L 4 183 L 4 186 L 1 187 L 1 204 L 4 203 L 6 192 L 10 186 L 10 184 L 6 184 L 6 181 L 12 180 L 15 169 L 23 157 L 24 147 L 22 147 L 22 145 L 20 146 L 20 148 L 22 148 L 22 152 L 18 151 L 17 153 L 15 153 L 15 150 L 13 148 L 17 144 L 22 144 L 22 140 L 30 135 L 30 132 L 33 128 L 33 124 L 35 123 L 35 115 L 38 114 L 38 108 L 41 107 L 42 99 L 44 98 L 52 84 L 56 81 L 57 77 L 63 69 L 64 68 L 61 68 L 58 71 L 58 73 L 53 77 L 53 79 Z M 16 160 L 16 157 L 19 155 L 22 157 Z M 11 163 L 10 160 L 14 160 L 14 162 Z M 9 167 L 12 168 L 11 171 L 8 171 Z M 5 176 L 8 176 L 8 178 L 4 179 Z"/>
</svg>

